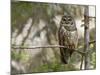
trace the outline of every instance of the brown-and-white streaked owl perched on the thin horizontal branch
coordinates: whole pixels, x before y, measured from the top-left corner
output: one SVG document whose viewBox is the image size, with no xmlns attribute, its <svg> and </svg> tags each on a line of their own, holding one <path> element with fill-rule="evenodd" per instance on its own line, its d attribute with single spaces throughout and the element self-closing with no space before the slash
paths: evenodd
<svg viewBox="0 0 100 75">
<path fill-rule="evenodd" d="M 62 16 L 58 30 L 59 45 L 67 48 L 60 48 L 61 62 L 68 64 L 73 50 L 77 48 L 78 33 L 75 20 L 70 15 Z"/>
</svg>

